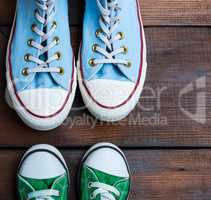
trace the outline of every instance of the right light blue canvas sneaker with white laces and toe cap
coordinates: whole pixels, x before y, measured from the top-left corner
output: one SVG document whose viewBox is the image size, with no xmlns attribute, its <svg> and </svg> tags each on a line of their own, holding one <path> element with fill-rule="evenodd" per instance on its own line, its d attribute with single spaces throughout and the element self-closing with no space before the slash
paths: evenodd
<svg viewBox="0 0 211 200">
<path fill-rule="evenodd" d="M 78 61 L 79 86 L 90 112 L 125 118 L 145 82 L 146 43 L 137 0 L 86 0 Z"/>
</svg>

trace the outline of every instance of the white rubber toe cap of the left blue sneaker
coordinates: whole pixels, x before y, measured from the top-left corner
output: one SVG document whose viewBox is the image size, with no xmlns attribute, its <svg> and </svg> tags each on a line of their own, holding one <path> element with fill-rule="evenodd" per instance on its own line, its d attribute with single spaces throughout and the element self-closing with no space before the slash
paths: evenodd
<svg viewBox="0 0 211 200">
<path fill-rule="evenodd" d="M 25 108 L 37 116 L 50 116 L 65 103 L 68 91 L 64 89 L 32 89 L 18 93 Z"/>
</svg>

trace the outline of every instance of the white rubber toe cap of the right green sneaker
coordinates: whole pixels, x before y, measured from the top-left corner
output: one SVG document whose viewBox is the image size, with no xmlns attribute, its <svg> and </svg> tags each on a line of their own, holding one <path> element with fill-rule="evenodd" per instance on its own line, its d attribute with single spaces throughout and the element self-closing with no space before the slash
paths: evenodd
<svg viewBox="0 0 211 200">
<path fill-rule="evenodd" d="M 84 164 L 113 176 L 129 177 L 127 163 L 115 148 L 96 149 L 90 153 Z"/>
</svg>

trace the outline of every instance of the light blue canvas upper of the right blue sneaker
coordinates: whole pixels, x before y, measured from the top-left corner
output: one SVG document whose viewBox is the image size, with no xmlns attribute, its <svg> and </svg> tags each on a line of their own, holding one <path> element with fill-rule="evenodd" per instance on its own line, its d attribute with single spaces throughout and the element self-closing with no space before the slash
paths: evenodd
<svg viewBox="0 0 211 200">
<path fill-rule="evenodd" d="M 96 30 L 100 28 L 100 11 L 96 0 L 85 0 L 85 14 L 83 23 L 83 42 L 81 49 L 81 60 L 83 75 L 85 80 L 110 79 L 137 82 L 141 64 L 141 19 L 138 13 L 136 0 L 118 0 L 121 8 L 120 24 L 113 35 L 123 32 L 124 38 L 113 43 L 114 49 L 125 46 L 128 48 L 127 54 L 119 54 L 116 58 L 125 59 L 132 63 L 131 67 L 122 64 L 98 64 L 95 67 L 89 65 L 91 58 L 103 58 L 98 52 L 93 52 L 92 45 L 98 44 L 105 48 L 105 44 L 96 36 Z M 107 0 L 101 0 L 106 8 Z"/>
</svg>

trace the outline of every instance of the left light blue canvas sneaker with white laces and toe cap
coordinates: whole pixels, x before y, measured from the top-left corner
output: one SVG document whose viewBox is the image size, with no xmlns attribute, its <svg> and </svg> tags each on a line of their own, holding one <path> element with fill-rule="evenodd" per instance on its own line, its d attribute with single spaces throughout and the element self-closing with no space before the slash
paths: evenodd
<svg viewBox="0 0 211 200">
<path fill-rule="evenodd" d="M 7 50 L 6 100 L 30 127 L 68 116 L 76 89 L 67 0 L 18 0 Z"/>
</svg>

